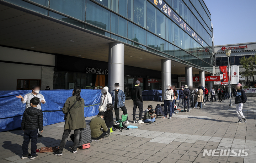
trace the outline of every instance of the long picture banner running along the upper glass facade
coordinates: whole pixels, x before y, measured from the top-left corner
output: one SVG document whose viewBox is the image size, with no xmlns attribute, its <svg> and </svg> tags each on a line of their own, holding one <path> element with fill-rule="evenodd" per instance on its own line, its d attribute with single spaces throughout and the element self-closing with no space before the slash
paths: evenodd
<svg viewBox="0 0 256 163">
<path fill-rule="evenodd" d="M 192 30 L 189 26 L 187 26 L 186 22 L 184 22 L 178 14 L 171 9 L 164 1 L 162 0 L 151 0 L 153 4 L 155 4 L 160 10 L 162 10 L 165 15 L 170 17 L 175 23 L 178 24 L 181 28 L 183 28 L 188 34 L 190 34 L 194 39 L 196 39 L 201 45 L 203 45 L 203 40 Z"/>
</svg>

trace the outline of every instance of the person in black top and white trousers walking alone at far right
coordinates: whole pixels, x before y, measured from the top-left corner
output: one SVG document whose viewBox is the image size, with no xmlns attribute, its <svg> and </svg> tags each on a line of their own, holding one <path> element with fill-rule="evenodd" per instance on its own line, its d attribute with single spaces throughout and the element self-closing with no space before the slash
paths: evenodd
<svg viewBox="0 0 256 163">
<path fill-rule="evenodd" d="M 236 85 L 233 96 L 235 97 L 235 104 L 236 104 L 236 114 L 238 115 L 238 121 L 236 123 L 242 123 L 242 119 L 245 123 L 247 123 L 247 120 L 244 117 L 244 114 L 242 113 L 242 106 L 247 101 L 247 97 L 245 94 L 245 91 L 242 89 L 242 84 Z"/>
</svg>

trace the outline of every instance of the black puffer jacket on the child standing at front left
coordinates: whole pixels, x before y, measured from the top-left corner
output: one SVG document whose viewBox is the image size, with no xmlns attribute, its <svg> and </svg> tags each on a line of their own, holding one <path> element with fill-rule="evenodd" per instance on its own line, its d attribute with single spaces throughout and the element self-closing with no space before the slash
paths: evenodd
<svg viewBox="0 0 256 163">
<path fill-rule="evenodd" d="M 22 117 L 22 130 L 43 130 L 43 112 L 35 107 L 28 107 Z"/>
</svg>

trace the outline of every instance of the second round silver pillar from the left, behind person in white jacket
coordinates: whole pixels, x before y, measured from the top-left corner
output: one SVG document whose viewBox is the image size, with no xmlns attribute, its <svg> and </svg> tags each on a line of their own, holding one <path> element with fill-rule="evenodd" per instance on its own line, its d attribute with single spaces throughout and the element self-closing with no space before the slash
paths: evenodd
<svg viewBox="0 0 256 163">
<path fill-rule="evenodd" d="M 162 100 L 164 100 L 164 91 L 171 84 L 171 60 L 163 59 L 162 61 Z"/>
</svg>

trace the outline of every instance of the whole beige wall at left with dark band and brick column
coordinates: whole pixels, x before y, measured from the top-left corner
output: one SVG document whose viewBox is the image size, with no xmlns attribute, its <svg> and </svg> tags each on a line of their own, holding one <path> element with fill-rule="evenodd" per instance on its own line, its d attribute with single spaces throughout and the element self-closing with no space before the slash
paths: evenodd
<svg viewBox="0 0 256 163">
<path fill-rule="evenodd" d="M 54 65 L 55 55 L 0 46 L 0 90 L 16 90 L 17 79 L 41 79 L 42 89 L 52 89 Z"/>
</svg>

